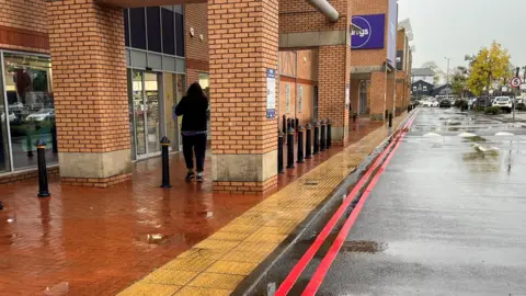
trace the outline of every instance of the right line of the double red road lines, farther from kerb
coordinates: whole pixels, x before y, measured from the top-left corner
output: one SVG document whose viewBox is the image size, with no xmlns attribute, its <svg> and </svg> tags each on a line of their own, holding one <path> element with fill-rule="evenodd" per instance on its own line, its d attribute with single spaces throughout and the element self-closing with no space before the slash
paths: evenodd
<svg viewBox="0 0 526 296">
<path fill-rule="evenodd" d="M 414 118 L 413 118 L 414 119 Z M 412 121 L 410 122 L 412 124 Z M 402 133 L 400 136 L 400 139 L 403 139 L 405 136 L 405 132 Z M 332 262 L 334 262 L 334 259 L 336 258 L 338 253 L 340 252 L 340 249 L 342 248 L 343 242 L 345 241 L 345 238 L 348 235 L 348 231 L 351 231 L 351 228 L 353 227 L 354 223 L 356 221 L 356 218 L 359 215 L 359 212 L 364 207 L 365 202 L 367 201 L 367 197 L 369 197 L 370 192 L 373 192 L 374 187 L 376 186 L 376 183 L 378 183 L 378 180 L 380 179 L 380 175 L 384 173 L 385 169 L 387 168 L 387 164 L 391 161 L 391 158 L 395 156 L 395 152 L 397 151 L 398 147 L 400 146 L 400 141 L 397 141 L 397 145 L 395 148 L 392 148 L 392 152 L 387 157 L 386 161 L 384 164 L 381 164 L 380 169 L 378 170 L 378 173 L 374 177 L 374 179 L 370 181 L 369 185 L 365 190 L 364 194 L 362 195 L 362 198 L 359 198 L 358 204 L 356 207 L 353 209 L 351 215 L 348 216 L 347 220 L 343 225 L 342 229 L 338 234 L 336 239 L 333 241 L 331 248 L 329 249 L 328 253 L 321 261 L 320 265 L 318 265 L 318 269 L 316 270 L 315 274 L 310 278 L 309 284 L 305 288 L 304 293 L 301 296 L 312 296 L 316 295 L 316 292 L 318 292 L 318 288 L 321 286 L 321 283 L 323 283 L 323 278 L 327 275 L 327 272 L 332 265 Z"/>
</svg>

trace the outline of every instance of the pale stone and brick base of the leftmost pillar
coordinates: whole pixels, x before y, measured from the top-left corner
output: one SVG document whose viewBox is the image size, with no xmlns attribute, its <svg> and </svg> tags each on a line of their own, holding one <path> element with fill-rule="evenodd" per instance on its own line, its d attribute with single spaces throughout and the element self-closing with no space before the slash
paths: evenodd
<svg viewBox="0 0 526 296">
<path fill-rule="evenodd" d="M 132 178 L 129 149 L 100 153 L 59 152 L 58 159 L 62 184 L 107 187 Z"/>
</svg>

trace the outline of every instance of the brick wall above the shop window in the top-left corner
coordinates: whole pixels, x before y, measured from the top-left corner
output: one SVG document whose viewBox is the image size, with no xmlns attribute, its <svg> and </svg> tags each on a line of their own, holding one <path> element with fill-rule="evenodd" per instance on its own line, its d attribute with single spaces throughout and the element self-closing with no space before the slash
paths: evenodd
<svg viewBox="0 0 526 296">
<path fill-rule="evenodd" d="M 47 54 L 46 16 L 43 0 L 0 0 L 0 48 Z"/>
</svg>

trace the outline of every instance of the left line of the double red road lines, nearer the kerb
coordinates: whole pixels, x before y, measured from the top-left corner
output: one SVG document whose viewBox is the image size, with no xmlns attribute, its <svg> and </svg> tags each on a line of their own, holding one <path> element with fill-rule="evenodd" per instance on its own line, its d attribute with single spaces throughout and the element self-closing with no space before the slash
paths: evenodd
<svg viewBox="0 0 526 296">
<path fill-rule="evenodd" d="M 405 129 L 407 127 L 411 126 L 413 123 L 414 118 L 416 117 L 416 113 L 412 115 L 412 117 L 405 123 L 405 125 L 402 127 L 402 130 Z M 345 197 L 345 201 L 340 205 L 340 207 L 336 209 L 334 215 L 331 217 L 331 219 L 327 223 L 327 225 L 323 227 L 321 232 L 317 236 L 315 242 L 309 247 L 309 249 L 305 252 L 305 254 L 301 257 L 301 259 L 296 263 L 296 265 L 293 267 L 290 273 L 287 275 L 285 281 L 279 285 L 278 289 L 276 291 L 276 296 L 284 296 L 287 295 L 288 292 L 293 288 L 294 284 L 296 281 L 298 281 L 299 276 L 304 272 L 305 267 L 309 264 L 309 262 L 312 260 L 315 257 L 316 252 L 320 249 L 321 244 L 325 241 L 327 237 L 331 232 L 331 230 L 334 228 L 336 225 L 338 220 L 342 217 L 343 213 L 345 209 L 351 205 L 353 202 L 354 197 L 356 194 L 359 192 L 359 190 L 364 186 L 365 182 L 370 178 L 373 172 L 376 170 L 376 168 L 379 166 L 381 162 L 381 159 L 384 159 L 384 156 L 389 152 L 390 148 L 395 145 L 396 141 L 398 141 L 398 138 L 400 137 L 397 136 L 396 140 L 391 141 L 389 146 L 378 156 L 374 164 L 367 170 L 367 172 L 359 179 L 358 183 L 353 187 L 351 193 Z M 353 210 L 354 212 L 354 210 Z"/>
</svg>

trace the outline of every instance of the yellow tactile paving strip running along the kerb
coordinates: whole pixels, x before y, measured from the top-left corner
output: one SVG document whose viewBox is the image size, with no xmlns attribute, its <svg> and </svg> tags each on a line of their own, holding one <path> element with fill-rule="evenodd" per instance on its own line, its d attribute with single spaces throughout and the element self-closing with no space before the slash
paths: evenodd
<svg viewBox="0 0 526 296">
<path fill-rule="evenodd" d="M 387 136 L 377 128 L 119 295 L 229 295 Z"/>
</svg>

